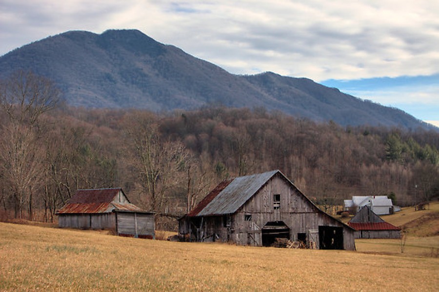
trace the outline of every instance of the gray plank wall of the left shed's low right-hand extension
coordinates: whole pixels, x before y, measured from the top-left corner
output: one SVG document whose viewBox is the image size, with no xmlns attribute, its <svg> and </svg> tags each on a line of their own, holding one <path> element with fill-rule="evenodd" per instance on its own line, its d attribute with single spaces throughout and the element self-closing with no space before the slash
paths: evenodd
<svg viewBox="0 0 439 292">
<path fill-rule="evenodd" d="M 154 214 L 118 212 L 117 221 L 118 234 L 155 238 Z"/>
</svg>

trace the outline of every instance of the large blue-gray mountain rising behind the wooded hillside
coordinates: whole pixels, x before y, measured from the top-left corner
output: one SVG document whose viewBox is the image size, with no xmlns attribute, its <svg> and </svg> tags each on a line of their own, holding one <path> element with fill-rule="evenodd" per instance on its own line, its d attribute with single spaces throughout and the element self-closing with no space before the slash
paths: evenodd
<svg viewBox="0 0 439 292">
<path fill-rule="evenodd" d="M 265 107 L 340 125 L 416 129 L 428 124 L 307 78 L 266 72 L 239 76 L 138 30 L 69 31 L 0 57 L 0 78 L 18 69 L 54 80 L 73 106 L 195 109 L 204 105 Z"/>
</svg>

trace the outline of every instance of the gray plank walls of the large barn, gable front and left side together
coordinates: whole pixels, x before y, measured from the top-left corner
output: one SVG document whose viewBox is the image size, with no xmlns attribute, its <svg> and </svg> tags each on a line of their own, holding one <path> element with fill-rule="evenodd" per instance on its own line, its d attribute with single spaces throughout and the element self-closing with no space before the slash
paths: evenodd
<svg viewBox="0 0 439 292">
<path fill-rule="evenodd" d="M 280 194 L 280 208 L 274 210 L 273 195 Z M 245 221 L 245 215 L 252 216 Z M 343 247 L 355 250 L 354 231 L 338 220 L 319 211 L 296 189 L 278 176 L 273 177 L 259 192 L 252 196 L 231 216 L 230 227 L 224 227 L 228 215 L 204 216 L 199 234 L 200 241 L 234 241 L 240 245 L 262 245 L 261 229 L 267 222 L 283 221 L 290 228 L 290 239 L 297 240 L 298 233 L 318 233 L 319 226 L 343 228 Z M 187 234 L 190 218 L 183 219 L 180 234 Z M 318 234 L 316 243 L 319 245 Z M 317 246 L 319 248 L 319 246 Z"/>
</svg>

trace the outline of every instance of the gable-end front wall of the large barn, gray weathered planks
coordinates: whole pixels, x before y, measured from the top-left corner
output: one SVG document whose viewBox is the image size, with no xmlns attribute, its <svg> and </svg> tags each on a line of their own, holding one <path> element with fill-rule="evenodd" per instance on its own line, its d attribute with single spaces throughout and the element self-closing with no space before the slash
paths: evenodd
<svg viewBox="0 0 439 292">
<path fill-rule="evenodd" d="M 274 195 L 280 195 L 279 209 L 274 209 Z M 245 221 L 245 215 L 251 220 Z M 354 231 L 338 220 L 319 211 L 295 188 L 279 176 L 274 176 L 259 192 L 251 197 L 234 215 L 235 240 L 242 245 L 262 245 L 261 229 L 267 222 L 282 221 L 290 228 L 290 240 L 298 240 L 298 234 L 307 234 L 307 241 L 319 226 L 343 228 L 343 247 L 355 250 Z M 317 248 L 319 241 L 317 239 Z"/>
</svg>

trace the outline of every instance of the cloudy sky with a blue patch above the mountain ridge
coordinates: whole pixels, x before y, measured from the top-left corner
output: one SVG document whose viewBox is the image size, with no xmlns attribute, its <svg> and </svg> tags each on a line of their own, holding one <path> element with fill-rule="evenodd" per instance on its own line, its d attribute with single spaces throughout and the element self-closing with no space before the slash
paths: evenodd
<svg viewBox="0 0 439 292">
<path fill-rule="evenodd" d="M 0 0 L 0 55 L 122 28 L 231 73 L 311 78 L 439 125 L 439 1 Z"/>
</svg>

